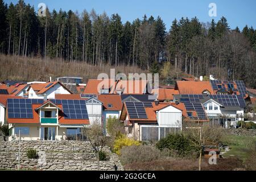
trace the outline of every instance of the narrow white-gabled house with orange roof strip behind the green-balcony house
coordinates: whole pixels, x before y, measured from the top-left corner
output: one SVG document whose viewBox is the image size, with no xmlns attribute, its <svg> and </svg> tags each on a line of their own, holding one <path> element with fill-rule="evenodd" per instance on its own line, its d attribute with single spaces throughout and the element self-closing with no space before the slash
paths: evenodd
<svg viewBox="0 0 256 182">
<path fill-rule="evenodd" d="M 97 95 L 89 94 L 56 94 L 56 100 L 85 100 L 90 123 L 102 123 L 103 103 Z"/>
</svg>

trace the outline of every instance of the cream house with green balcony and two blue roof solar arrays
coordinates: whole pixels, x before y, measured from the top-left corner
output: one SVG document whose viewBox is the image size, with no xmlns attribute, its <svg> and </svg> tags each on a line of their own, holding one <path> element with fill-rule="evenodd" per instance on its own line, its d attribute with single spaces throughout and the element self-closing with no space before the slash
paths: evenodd
<svg viewBox="0 0 256 182">
<path fill-rule="evenodd" d="M 6 115 L 9 140 L 77 139 L 90 124 L 85 100 L 7 98 Z"/>
</svg>

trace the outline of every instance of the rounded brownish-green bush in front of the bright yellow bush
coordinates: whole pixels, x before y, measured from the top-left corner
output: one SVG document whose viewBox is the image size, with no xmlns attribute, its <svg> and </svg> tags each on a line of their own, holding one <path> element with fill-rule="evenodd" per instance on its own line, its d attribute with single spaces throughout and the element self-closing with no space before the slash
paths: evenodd
<svg viewBox="0 0 256 182">
<path fill-rule="evenodd" d="M 161 151 L 154 146 L 124 146 L 121 149 L 120 160 L 122 164 L 134 162 L 149 162 L 161 158 Z"/>
</svg>

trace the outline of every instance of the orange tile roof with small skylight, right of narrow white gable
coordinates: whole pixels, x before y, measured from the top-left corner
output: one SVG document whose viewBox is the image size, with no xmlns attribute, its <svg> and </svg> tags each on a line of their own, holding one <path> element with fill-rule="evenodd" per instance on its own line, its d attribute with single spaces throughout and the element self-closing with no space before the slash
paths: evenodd
<svg viewBox="0 0 256 182">
<path fill-rule="evenodd" d="M 121 96 L 115 94 L 101 94 L 98 95 L 98 100 L 103 103 L 104 110 L 122 110 Z M 112 107 L 108 105 L 112 104 Z"/>
</svg>

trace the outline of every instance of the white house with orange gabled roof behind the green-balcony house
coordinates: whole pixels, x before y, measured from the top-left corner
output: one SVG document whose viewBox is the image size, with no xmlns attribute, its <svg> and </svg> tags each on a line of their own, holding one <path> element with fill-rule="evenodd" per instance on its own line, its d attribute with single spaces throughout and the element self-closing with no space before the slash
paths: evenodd
<svg viewBox="0 0 256 182">
<path fill-rule="evenodd" d="M 72 92 L 61 82 L 52 81 L 42 84 L 31 84 L 27 89 L 27 98 L 53 99 L 55 94 L 72 94 Z"/>
</svg>

